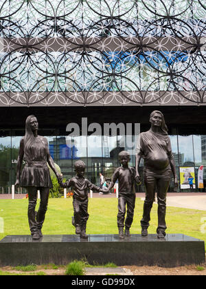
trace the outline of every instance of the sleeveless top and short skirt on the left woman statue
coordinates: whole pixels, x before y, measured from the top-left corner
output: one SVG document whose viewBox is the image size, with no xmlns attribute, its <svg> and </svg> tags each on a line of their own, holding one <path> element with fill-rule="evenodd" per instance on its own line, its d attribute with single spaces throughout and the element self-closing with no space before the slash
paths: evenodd
<svg viewBox="0 0 206 289">
<path fill-rule="evenodd" d="M 37 136 L 24 153 L 25 167 L 21 173 L 20 186 L 43 186 L 53 188 L 47 166 L 47 139 Z"/>
</svg>

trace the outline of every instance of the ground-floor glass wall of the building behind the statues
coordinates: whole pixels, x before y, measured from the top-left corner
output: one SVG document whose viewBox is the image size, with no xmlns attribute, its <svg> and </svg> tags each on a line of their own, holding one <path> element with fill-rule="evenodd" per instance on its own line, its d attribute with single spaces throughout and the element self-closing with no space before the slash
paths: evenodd
<svg viewBox="0 0 206 289">
<path fill-rule="evenodd" d="M 11 186 L 16 178 L 16 162 L 19 155 L 19 142 L 23 136 L 23 131 L 4 130 L 0 131 L 0 193 L 11 193 Z M 87 169 L 85 177 L 94 184 L 100 184 L 100 173 L 105 179 L 111 179 L 113 172 L 119 167 L 118 154 L 122 150 L 130 153 L 130 166 L 135 167 L 135 136 L 79 136 L 68 138 L 68 136 L 57 136 L 53 129 L 43 130 L 40 135 L 45 136 L 49 143 L 49 151 L 54 162 L 60 167 L 65 178 L 75 175 L 73 169 L 76 160 L 85 162 Z M 19 136 L 20 135 L 20 136 Z M 181 171 L 191 171 L 194 176 L 194 191 L 205 191 L 198 189 L 198 168 L 206 166 L 206 136 L 190 135 L 179 136 L 170 135 L 176 172 L 179 177 L 179 191 L 188 192 L 189 185 L 183 188 L 183 176 Z M 24 165 L 24 164 L 23 164 Z M 144 163 L 141 160 L 140 173 L 143 174 Z M 186 177 L 185 177 L 186 178 Z M 203 173 L 205 186 L 206 171 Z M 136 186 L 137 192 L 144 192 L 144 183 Z M 169 191 L 174 191 L 174 180 L 170 182 Z M 25 193 L 21 188 L 17 192 Z"/>
</svg>

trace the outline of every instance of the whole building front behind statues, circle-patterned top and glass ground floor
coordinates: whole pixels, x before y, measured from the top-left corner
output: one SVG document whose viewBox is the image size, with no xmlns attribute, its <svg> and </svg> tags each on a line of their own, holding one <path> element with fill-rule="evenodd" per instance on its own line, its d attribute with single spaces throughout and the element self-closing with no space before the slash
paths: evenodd
<svg viewBox="0 0 206 289">
<path fill-rule="evenodd" d="M 0 7 L 0 192 L 15 182 L 30 114 L 65 177 L 82 159 L 98 184 L 101 171 L 111 178 L 123 149 L 135 166 L 135 140 L 154 109 L 165 116 L 176 171 L 191 168 L 197 186 L 206 162 L 205 0 L 7 0 Z M 105 124 L 113 124 L 108 133 Z"/>
</svg>

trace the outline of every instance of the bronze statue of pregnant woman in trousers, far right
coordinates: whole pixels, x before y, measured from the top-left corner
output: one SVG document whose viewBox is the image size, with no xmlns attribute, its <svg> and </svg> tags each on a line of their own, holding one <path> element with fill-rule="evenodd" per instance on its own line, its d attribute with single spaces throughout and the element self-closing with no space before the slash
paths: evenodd
<svg viewBox="0 0 206 289">
<path fill-rule="evenodd" d="M 178 181 L 168 128 L 161 111 L 152 111 L 150 114 L 151 127 L 148 131 L 140 133 L 137 140 L 136 154 L 136 176 L 139 178 L 139 162 L 141 157 L 144 158 L 144 184 L 146 187 L 146 198 L 144 201 L 143 217 L 141 219 L 141 235 L 148 235 L 148 226 L 150 221 L 150 211 L 157 190 L 158 202 L 158 227 L 157 237 L 165 237 L 165 211 L 166 211 L 166 194 L 170 184 L 171 173 L 174 176 L 174 183 L 177 188 Z"/>
</svg>

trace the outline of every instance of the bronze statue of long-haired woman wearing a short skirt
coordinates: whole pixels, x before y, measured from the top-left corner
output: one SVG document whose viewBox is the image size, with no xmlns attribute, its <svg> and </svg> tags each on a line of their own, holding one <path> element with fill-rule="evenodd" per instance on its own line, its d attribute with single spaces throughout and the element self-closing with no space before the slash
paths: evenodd
<svg viewBox="0 0 206 289">
<path fill-rule="evenodd" d="M 25 160 L 25 167 L 21 173 L 23 160 Z M 47 211 L 49 189 L 52 188 L 52 180 L 47 163 L 56 174 L 58 180 L 60 180 L 61 175 L 57 173 L 54 161 L 49 154 L 47 139 L 43 136 L 38 136 L 38 121 L 36 117 L 28 116 L 25 122 L 25 136 L 20 142 L 15 186 L 27 188 L 29 196 L 28 220 L 32 239 L 42 237 L 41 228 Z M 40 191 L 41 202 L 36 215 L 37 190 Z"/>
</svg>

